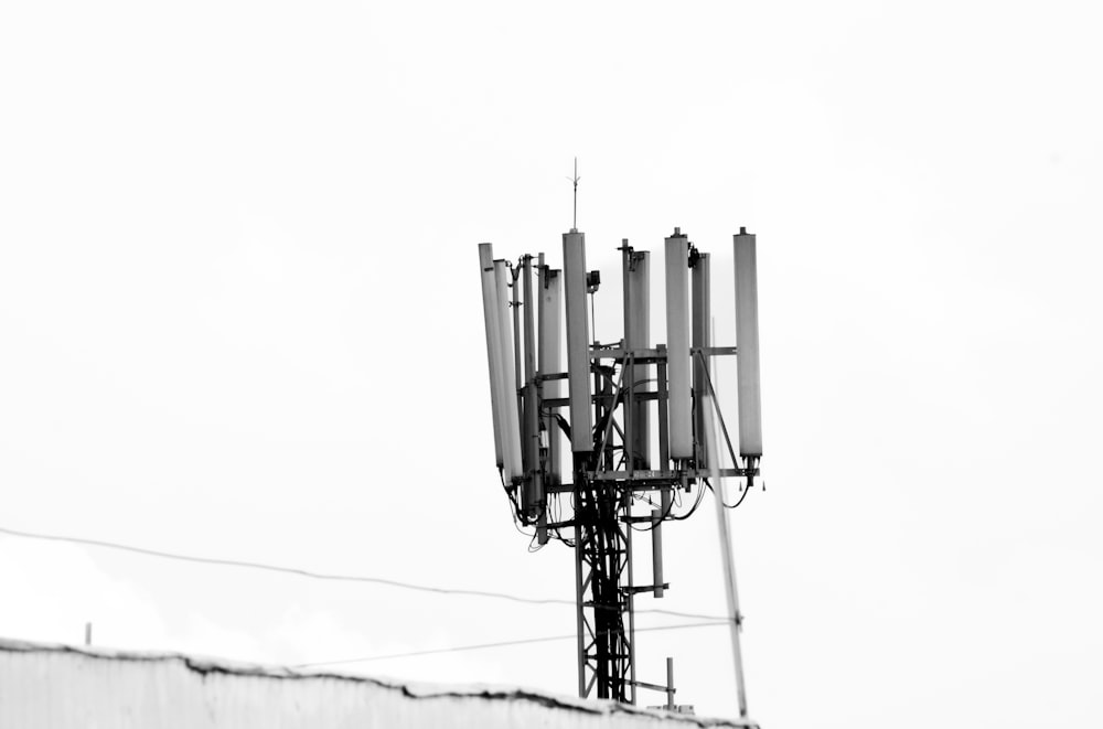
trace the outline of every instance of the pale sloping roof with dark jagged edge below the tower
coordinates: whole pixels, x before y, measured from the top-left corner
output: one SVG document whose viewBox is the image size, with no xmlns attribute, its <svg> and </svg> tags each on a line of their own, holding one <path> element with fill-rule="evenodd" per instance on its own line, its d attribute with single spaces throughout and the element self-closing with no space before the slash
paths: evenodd
<svg viewBox="0 0 1103 729">
<path fill-rule="evenodd" d="M 521 688 L 405 684 L 178 653 L 0 639 L 0 727 L 756 727 Z"/>
</svg>

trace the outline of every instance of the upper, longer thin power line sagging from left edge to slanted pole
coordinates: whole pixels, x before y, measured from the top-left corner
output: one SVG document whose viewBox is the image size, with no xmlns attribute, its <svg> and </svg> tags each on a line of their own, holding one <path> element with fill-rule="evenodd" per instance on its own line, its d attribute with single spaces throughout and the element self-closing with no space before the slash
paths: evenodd
<svg viewBox="0 0 1103 729">
<path fill-rule="evenodd" d="M 26 539 L 41 539 L 44 542 L 64 542 L 68 544 L 86 545 L 89 547 L 100 547 L 104 549 L 117 549 L 119 551 L 129 551 L 138 555 L 144 555 L 147 557 L 158 557 L 160 559 L 174 559 L 178 561 L 186 561 L 199 565 L 218 565 L 222 567 L 242 567 L 245 569 L 259 569 L 269 572 L 278 572 L 280 575 L 293 575 L 296 577 L 307 577 L 315 580 L 333 580 L 341 582 L 384 585 L 387 587 L 398 588 L 403 590 L 416 590 L 419 592 L 431 592 L 436 594 L 454 594 L 454 596 L 472 597 L 472 598 L 491 598 L 495 600 L 510 600 L 512 602 L 522 602 L 526 604 L 537 604 L 537 605 L 561 604 L 561 605 L 575 607 L 577 604 L 574 600 L 564 600 L 561 598 L 526 598 L 518 594 L 510 594 L 508 592 L 495 592 L 491 590 L 467 590 L 462 588 L 443 588 L 443 587 L 435 587 L 431 585 L 416 585 L 414 582 L 403 582 L 400 580 L 392 580 L 385 577 L 368 577 L 363 575 L 336 575 L 328 572 L 315 572 L 308 569 L 299 569 L 297 567 L 281 567 L 279 565 L 269 565 L 266 562 L 254 562 L 240 559 L 224 559 L 218 557 L 195 557 L 191 555 L 180 555 L 171 551 L 161 551 L 159 549 L 149 549 L 147 547 L 135 547 L 132 545 L 119 544 L 116 542 L 105 542 L 103 539 L 88 539 L 85 537 L 71 537 L 57 534 L 41 534 L 38 532 L 21 532 L 19 529 L 11 529 L 4 526 L 0 526 L 0 533 L 13 537 L 23 537 Z M 636 610 L 635 612 L 674 615 L 677 618 L 696 618 L 700 620 L 721 620 L 721 621 L 726 620 L 720 615 L 704 615 L 692 612 L 679 612 L 676 610 L 663 610 L 661 608 Z"/>
</svg>

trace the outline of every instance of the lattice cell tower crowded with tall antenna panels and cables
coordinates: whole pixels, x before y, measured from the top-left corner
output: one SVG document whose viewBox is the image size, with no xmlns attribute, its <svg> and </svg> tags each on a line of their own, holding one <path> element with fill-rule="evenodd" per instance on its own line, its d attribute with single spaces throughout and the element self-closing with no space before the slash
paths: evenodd
<svg viewBox="0 0 1103 729">
<path fill-rule="evenodd" d="M 745 479 L 750 490 L 759 474 L 754 235 L 741 228 L 733 247 L 736 346 L 717 346 L 709 326 L 709 255 L 678 228 L 664 243 L 666 343 L 656 345 L 650 339 L 649 251 L 622 242 L 624 334 L 600 343 L 591 340 L 588 299 L 600 274 L 587 271 L 583 233 L 572 227 L 563 235 L 561 269 L 543 253 L 514 265 L 495 260 L 491 244 L 479 245 L 497 467 L 516 518 L 535 527 L 536 542 L 558 539 L 575 550 L 582 698 L 596 693 L 634 704 L 638 687 L 673 695 L 673 686 L 638 680 L 635 673 L 635 598 L 662 598 L 670 589 L 663 523 L 688 515 L 675 513 L 679 497 L 696 504 L 711 487 L 720 498 L 721 478 Z M 711 377 L 713 357 L 730 355 L 738 364 L 738 458 Z M 736 468 L 720 468 L 715 421 Z M 632 537 L 641 530 L 651 537 L 652 585 L 633 583 Z M 746 716 L 733 581 L 728 598 Z"/>
</svg>

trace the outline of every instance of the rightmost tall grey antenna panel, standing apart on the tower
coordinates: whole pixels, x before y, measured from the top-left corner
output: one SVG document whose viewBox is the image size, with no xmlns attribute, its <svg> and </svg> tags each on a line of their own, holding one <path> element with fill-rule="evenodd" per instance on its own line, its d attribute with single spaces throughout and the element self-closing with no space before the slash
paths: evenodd
<svg viewBox="0 0 1103 729">
<path fill-rule="evenodd" d="M 736 251 L 736 365 L 739 389 L 739 454 L 762 455 L 759 376 L 758 270 L 754 235 L 733 236 Z"/>
</svg>

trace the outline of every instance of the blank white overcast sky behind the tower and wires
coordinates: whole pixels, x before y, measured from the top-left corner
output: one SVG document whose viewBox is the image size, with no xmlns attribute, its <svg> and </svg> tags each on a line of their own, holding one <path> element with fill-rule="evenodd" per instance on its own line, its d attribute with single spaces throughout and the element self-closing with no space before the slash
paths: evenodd
<svg viewBox="0 0 1103 729">
<path fill-rule="evenodd" d="M 476 244 L 758 235 L 763 726 L 1099 726 L 1103 97 L 1090 2 L 7 2 L 0 527 L 532 597 Z M 665 341 L 660 309 L 653 337 Z M 733 374 L 718 372 L 733 414 Z M 710 505 L 709 511 L 710 511 Z M 661 607 L 725 610 L 715 518 Z M 647 560 L 638 568 L 645 577 Z M 0 535 L 0 635 L 296 664 L 570 634 L 570 607 Z M 638 625 L 676 619 L 641 614 Z M 724 628 L 639 675 L 733 716 Z M 345 664 L 571 694 L 572 641 Z M 655 695 L 654 703 L 662 697 Z"/>
</svg>

